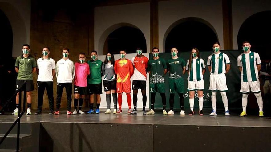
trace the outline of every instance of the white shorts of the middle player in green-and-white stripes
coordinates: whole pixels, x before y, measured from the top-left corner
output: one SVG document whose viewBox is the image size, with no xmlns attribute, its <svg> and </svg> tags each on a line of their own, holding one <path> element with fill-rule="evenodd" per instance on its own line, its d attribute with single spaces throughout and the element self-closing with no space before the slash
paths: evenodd
<svg viewBox="0 0 271 152">
<path fill-rule="evenodd" d="M 226 75 L 224 73 L 221 74 L 212 74 L 210 75 L 210 87 L 211 91 L 228 91 Z"/>
</svg>

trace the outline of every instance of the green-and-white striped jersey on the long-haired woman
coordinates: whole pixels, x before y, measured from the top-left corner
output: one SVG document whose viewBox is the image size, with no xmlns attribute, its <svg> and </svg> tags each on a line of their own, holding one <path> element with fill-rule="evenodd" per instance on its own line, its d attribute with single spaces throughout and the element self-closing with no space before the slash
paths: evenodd
<svg viewBox="0 0 271 152">
<path fill-rule="evenodd" d="M 203 80 L 202 70 L 205 69 L 204 60 L 201 58 L 192 59 L 191 65 L 187 60 L 186 70 L 189 70 L 189 81 L 200 81 Z"/>
</svg>

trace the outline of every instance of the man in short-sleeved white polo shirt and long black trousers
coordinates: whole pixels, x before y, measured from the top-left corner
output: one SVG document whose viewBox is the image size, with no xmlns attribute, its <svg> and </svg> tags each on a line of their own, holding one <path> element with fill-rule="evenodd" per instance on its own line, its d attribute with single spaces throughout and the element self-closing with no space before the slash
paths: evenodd
<svg viewBox="0 0 271 152">
<path fill-rule="evenodd" d="M 38 110 L 35 114 L 41 114 L 45 88 L 49 100 L 49 114 L 54 114 L 53 78 L 55 77 L 55 60 L 50 58 L 49 54 L 49 47 L 44 47 L 42 49 L 43 57 L 37 60 Z"/>
</svg>

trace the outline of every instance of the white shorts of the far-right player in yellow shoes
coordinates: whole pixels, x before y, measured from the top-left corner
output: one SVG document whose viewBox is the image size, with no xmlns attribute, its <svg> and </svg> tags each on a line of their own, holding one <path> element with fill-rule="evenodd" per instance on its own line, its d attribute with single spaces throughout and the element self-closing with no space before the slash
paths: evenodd
<svg viewBox="0 0 271 152">
<path fill-rule="evenodd" d="M 254 92 L 254 93 L 259 93 L 261 92 L 260 89 L 260 81 L 253 81 L 253 82 L 244 82 L 241 80 L 241 93 L 249 93 L 249 92 Z"/>
</svg>

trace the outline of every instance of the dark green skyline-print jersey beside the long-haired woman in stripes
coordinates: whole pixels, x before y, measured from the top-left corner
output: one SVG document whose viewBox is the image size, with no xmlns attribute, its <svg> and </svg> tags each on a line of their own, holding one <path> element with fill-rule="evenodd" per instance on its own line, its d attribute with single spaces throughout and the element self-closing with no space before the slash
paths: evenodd
<svg viewBox="0 0 271 152">
<path fill-rule="evenodd" d="M 177 59 L 169 59 L 167 62 L 169 70 L 169 78 L 178 79 L 183 77 L 183 67 L 185 67 L 184 59 L 178 57 Z"/>
</svg>

